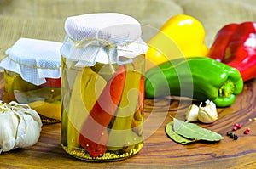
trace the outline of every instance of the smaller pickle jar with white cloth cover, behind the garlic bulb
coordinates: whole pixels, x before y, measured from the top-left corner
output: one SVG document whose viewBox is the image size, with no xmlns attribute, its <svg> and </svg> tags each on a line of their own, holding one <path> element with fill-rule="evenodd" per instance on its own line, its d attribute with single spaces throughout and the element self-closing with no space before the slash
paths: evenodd
<svg viewBox="0 0 256 169">
<path fill-rule="evenodd" d="M 20 38 L 6 51 L 3 102 L 36 110 L 44 124 L 61 121 L 61 42 Z"/>
</svg>

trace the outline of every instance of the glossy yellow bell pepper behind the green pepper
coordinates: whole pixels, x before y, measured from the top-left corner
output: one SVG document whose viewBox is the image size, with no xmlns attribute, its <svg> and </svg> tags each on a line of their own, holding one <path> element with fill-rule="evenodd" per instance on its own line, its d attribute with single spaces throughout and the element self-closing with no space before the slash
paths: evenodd
<svg viewBox="0 0 256 169">
<path fill-rule="evenodd" d="M 146 70 L 168 60 L 206 56 L 205 29 L 199 20 L 186 14 L 171 17 L 148 43 Z"/>
</svg>

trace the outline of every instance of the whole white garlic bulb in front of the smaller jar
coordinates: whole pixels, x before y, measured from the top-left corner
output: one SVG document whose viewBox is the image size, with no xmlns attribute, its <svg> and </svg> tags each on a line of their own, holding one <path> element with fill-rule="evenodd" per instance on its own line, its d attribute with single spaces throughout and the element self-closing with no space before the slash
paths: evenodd
<svg viewBox="0 0 256 169">
<path fill-rule="evenodd" d="M 0 101 L 0 154 L 36 144 L 41 127 L 40 116 L 27 104 Z"/>
</svg>

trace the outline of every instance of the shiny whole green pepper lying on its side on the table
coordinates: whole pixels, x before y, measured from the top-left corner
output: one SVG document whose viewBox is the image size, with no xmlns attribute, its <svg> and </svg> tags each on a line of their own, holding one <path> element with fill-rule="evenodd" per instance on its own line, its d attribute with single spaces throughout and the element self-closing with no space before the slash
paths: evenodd
<svg viewBox="0 0 256 169">
<path fill-rule="evenodd" d="M 238 70 L 205 57 L 173 59 L 146 72 L 145 97 L 172 95 L 212 100 L 218 107 L 233 104 L 243 81 Z"/>
</svg>

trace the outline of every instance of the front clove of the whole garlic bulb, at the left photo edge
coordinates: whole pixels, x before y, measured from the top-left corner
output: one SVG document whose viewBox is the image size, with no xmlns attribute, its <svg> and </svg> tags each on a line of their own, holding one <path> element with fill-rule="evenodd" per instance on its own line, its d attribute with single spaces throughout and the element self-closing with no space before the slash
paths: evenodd
<svg viewBox="0 0 256 169">
<path fill-rule="evenodd" d="M 18 120 L 15 115 L 8 112 L 0 113 L 0 154 L 15 148 L 16 128 Z"/>
</svg>

